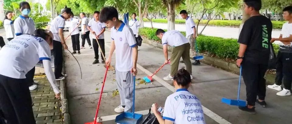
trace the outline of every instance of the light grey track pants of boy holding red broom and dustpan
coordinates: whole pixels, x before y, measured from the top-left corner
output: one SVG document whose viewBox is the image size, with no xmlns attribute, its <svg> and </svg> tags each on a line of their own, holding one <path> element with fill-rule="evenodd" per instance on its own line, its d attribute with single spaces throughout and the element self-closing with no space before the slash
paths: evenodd
<svg viewBox="0 0 292 124">
<path fill-rule="evenodd" d="M 125 112 L 132 112 L 134 79 L 130 71 L 119 72 L 116 70 L 116 83 L 120 93 L 121 105 L 126 106 Z"/>
</svg>

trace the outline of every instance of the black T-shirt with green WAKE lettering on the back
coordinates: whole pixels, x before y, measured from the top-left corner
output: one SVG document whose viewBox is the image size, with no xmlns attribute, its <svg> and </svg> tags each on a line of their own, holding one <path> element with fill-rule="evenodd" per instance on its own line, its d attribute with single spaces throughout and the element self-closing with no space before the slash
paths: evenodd
<svg viewBox="0 0 292 124">
<path fill-rule="evenodd" d="M 243 24 L 238 43 L 248 45 L 243 59 L 255 64 L 268 65 L 272 22 L 262 15 L 252 16 Z"/>
</svg>

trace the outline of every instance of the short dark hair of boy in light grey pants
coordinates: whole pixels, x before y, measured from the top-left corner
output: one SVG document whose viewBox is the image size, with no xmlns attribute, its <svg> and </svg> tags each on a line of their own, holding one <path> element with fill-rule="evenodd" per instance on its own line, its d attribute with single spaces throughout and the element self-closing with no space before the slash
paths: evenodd
<svg viewBox="0 0 292 124">
<path fill-rule="evenodd" d="M 119 20 L 118 11 L 116 8 L 112 6 L 104 7 L 99 14 L 99 21 L 106 22 L 108 20 L 113 20 L 115 17 Z"/>
</svg>

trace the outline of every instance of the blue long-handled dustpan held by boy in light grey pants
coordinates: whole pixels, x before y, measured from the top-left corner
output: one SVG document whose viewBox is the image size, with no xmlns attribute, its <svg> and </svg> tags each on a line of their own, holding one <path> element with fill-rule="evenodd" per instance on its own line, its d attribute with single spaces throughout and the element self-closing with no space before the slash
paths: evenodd
<svg viewBox="0 0 292 124">
<path fill-rule="evenodd" d="M 142 121 L 143 115 L 137 114 L 135 112 L 135 79 L 134 76 L 134 91 L 133 91 L 133 112 L 123 112 L 122 114 L 116 116 L 116 123 L 119 124 L 138 124 Z"/>
</svg>

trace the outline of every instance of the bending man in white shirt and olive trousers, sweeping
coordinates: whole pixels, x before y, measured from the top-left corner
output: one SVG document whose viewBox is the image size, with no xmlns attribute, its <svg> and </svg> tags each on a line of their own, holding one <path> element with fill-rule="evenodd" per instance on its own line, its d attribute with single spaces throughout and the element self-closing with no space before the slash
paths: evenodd
<svg viewBox="0 0 292 124">
<path fill-rule="evenodd" d="M 166 81 L 173 80 L 173 76 L 177 73 L 177 70 L 179 68 L 179 59 L 182 57 L 182 60 L 185 62 L 186 70 L 191 74 L 191 79 L 193 79 L 192 76 L 192 64 L 189 60 L 189 41 L 184 37 L 179 31 L 176 30 L 170 30 L 168 32 L 165 32 L 162 29 L 157 29 L 156 35 L 159 39 L 162 41 L 163 45 L 163 53 L 165 57 L 165 64 L 168 62 L 168 45 L 172 46 L 172 53 L 170 57 L 170 74 L 164 77 L 163 79 Z"/>
</svg>

